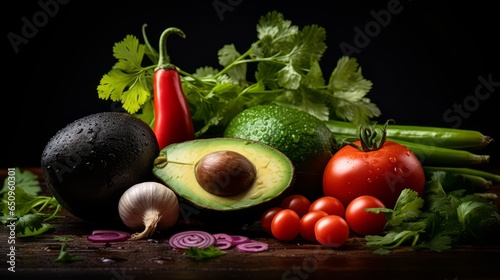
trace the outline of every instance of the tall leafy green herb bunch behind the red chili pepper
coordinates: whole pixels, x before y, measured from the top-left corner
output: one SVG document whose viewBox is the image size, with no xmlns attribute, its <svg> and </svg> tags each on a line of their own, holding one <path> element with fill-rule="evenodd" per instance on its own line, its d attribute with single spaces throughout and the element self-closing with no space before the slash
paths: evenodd
<svg viewBox="0 0 500 280">
<path fill-rule="evenodd" d="M 152 124 L 152 77 L 158 52 L 149 44 L 144 27 L 143 37 L 144 44 L 127 35 L 114 45 L 118 61 L 102 77 L 97 91 L 100 99 L 120 102 L 127 112 Z M 319 63 L 327 48 L 325 39 L 324 28 L 300 29 L 272 11 L 260 18 L 257 40 L 244 53 L 234 44 L 218 51 L 222 69 L 203 66 L 191 74 L 177 67 L 196 136 L 211 127 L 223 127 L 248 107 L 270 103 L 295 107 L 321 120 L 366 124 L 379 116 L 379 108 L 366 97 L 372 83 L 363 77 L 355 58 L 341 57 L 325 80 Z M 145 56 L 151 65 L 142 65 Z M 256 69 L 252 78 L 250 68 Z"/>
</svg>

